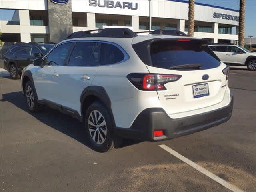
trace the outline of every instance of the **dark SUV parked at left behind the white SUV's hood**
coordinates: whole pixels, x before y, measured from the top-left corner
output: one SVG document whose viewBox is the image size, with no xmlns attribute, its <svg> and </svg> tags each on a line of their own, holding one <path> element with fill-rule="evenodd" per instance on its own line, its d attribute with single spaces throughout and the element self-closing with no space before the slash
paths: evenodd
<svg viewBox="0 0 256 192">
<path fill-rule="evenodd" d="M 19 79 L 23 68 L 36 58 L 42 58 L 54 46 L 52 43 L 18 42 L 4 54 L 4 69 L 13 79 Z"/>
</svg>

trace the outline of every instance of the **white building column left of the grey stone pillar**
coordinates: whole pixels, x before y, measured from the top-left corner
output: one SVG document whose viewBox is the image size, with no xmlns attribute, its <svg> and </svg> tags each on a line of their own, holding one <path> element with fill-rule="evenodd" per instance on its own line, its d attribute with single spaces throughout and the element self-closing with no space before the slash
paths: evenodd
<svg viewBox="0 0 256 192">
<path fill-rule="evenodd" d="M 20 40 L 24 41 L 31 41 L 29 26 L 30 26 L 30 19 L 29 19 L 29 10 L 19 10 L 19 17 L 20 17 Z"/>
</svg>

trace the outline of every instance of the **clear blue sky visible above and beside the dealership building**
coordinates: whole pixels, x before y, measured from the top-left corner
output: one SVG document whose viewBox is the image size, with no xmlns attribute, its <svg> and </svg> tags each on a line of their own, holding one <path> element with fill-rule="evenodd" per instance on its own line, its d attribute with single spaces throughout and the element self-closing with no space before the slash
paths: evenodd
<svg viewBox="0 0 256 192">
<path fill-rule="evenodd" d="M 187 0 L 188 1 L 188 0 Z M 239 10 L 239 0 L 196 0 L 198 3 L 216 5 L 226 8 Z M 248 36 L 256 37 L 256 0 L 246 0 L 245 15 L 245 38 Z M 0 11 L 1 20 L 10 20 L 14 12 Z"/>
</svg>

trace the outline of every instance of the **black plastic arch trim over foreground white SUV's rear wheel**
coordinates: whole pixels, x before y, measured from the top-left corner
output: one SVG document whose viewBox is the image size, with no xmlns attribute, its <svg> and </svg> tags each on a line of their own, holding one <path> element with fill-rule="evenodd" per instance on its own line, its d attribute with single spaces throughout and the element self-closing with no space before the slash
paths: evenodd
<svg viewBox="0 0 256 192">
<path fill-rule="evenodd" d="M 82 91 L 82 94 L 80 96 L 82 118 L 84 118 L 84 115 L 85 115 L 85 114 L 83 114 L 83 107 L 84 107 L 83 104 L 86 101 L 86 98 L 88 96 L 96 96 L 99 98 L 99 100 L 102 102 L 102 104 L 104 104 L 106 106 L 106 108 L 108 109 L 108 112 L 110 113 L 110 117 L 112 119 L 113 126 L 116 126 L 115 120 L 114 120 L 114 115 L 113 115 L 112 108 L 111 108 L 111 100 L 108 96 L 108 93 L 102 86 L 88 86 Z"/>
</svg>

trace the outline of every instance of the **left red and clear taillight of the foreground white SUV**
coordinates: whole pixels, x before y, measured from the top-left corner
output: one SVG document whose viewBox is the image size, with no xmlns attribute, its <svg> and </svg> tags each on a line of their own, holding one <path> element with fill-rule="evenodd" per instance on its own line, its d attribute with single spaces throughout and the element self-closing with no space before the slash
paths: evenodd
<svg viewBox="0 0 256 192">
<path fill-rule="evenodd" d="M 127 78 L 140 90 L 156 91 L 166 90 L 164 84 L 179 80 L 181 75 L 131 73 Z"/>
</svg>

